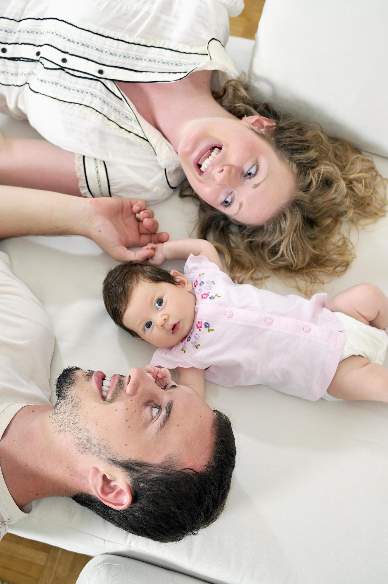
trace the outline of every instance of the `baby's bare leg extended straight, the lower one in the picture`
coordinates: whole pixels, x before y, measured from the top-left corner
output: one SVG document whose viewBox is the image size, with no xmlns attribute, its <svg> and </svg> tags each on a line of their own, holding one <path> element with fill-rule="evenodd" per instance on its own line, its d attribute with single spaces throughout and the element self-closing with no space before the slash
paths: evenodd
<svg viewBox="0 0 388 584">
<path fill-rule="evenodd" d="M 340 399 L 370 399 L 388 403 L 388 369 L 370 363 L 365 357 L 352 355 L 338 363 L 327 392 Z"/>
</svg>

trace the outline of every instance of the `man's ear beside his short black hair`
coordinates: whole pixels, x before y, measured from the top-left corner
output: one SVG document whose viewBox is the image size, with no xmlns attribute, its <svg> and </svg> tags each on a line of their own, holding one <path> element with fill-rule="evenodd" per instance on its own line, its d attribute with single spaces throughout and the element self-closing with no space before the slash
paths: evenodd
<svg viewBox="0 0 388 584">
<path fill-rule="evenodd" d="M 113 474 L 107 469 L 92 467 L 89 486 L 93 495 L 112 509 L 127 509 L 132 502 L 131 487 L 118 469 L 117 474 Z"/>
</svg>

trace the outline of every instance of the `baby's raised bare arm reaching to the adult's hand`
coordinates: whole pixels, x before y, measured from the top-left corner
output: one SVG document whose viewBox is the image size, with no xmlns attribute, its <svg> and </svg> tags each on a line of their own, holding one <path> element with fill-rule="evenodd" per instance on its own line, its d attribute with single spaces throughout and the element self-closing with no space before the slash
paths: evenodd
<svg viewBox="0 0 388 584">
<path fill-rule="evenodd" d="M 223 272 L 223 265 L 219 253 L 213 244 L 206 239 L 175 239 L 166 241 L 164 244 L 148 244 L 145 249 L 154 249 L 153 258 L 148 258 L 147 262 L 155 266 L 160 266 L 163 262 L 172 259 L 188 259 L 190 253 L 193 255 L 205 256 L 210 262 L 216 264 Z"/>
</svg>

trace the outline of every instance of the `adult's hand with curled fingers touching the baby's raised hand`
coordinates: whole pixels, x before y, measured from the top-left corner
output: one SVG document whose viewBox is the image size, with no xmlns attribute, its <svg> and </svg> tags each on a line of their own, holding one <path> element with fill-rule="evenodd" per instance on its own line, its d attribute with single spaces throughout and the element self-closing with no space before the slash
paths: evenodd
<svg viewBox="0 0 388 584">
<path fill-rule="evenodd" d="M 147 209 L 143 199 L 101 197 L 85 203 L 88 204 L 84 218 L 86 237 L 93 239 L 118 262 L 151 258 L 155 251 L 148 244 L 159 245 L 169 237 L 166 232 L 156 233 L 158 222 L 154 219 L 154 211 Z M 79 220 L 82 221 L 82 217 Z M 127 249 L 141 246 L 146 247 L 137 252 Z"/>
</svg>

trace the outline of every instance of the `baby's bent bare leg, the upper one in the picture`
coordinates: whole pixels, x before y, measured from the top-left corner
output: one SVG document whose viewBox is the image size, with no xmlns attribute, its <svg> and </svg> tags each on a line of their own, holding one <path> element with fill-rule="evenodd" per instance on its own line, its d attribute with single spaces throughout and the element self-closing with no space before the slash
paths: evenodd
<svg viewBox="0 0 388 584">
<path fill-rule="evenodd" d="M 330 298 L 325 307 L 376 328 L 385 329 L 388 326 L 388 298 L 374 284 L 352 286 Z"/>
</svg>

